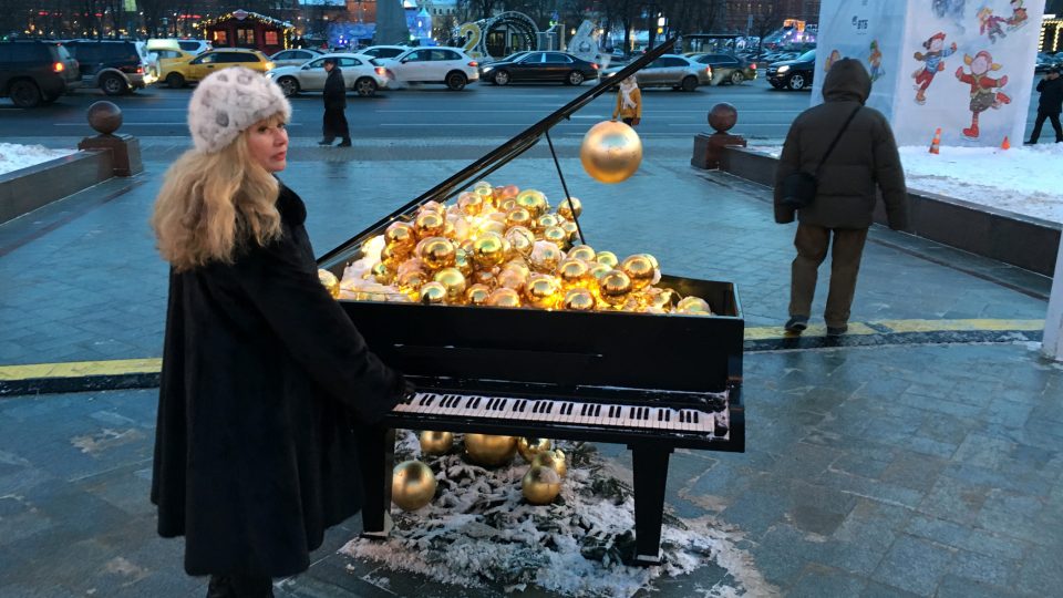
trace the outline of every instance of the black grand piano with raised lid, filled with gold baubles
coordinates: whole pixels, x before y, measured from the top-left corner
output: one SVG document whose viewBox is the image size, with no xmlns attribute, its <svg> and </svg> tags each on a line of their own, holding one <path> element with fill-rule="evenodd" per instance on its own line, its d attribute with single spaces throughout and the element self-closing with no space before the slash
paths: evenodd
<svg viewBox="0 0 1063 598">
<path fill-rule="evenodd" d="M 362 257 L 364 240 L 396 219 L 412 220 L 422 204 L 452 198 L 543 137 L 553 152 L 551 126 L 670 47 L 648 52 L 359 233 L 321 257 L 319 267 L 341 276 Z M 621 443 L 632 452 L 634 563 L 658 564 L 671 452 L 745 451 L 744 322 L 734 286 L 671 276 L 658 286 L 705 299 L 713 316 L 341 300 L 373 351 L 417 388 L 361 439 L 363 536 L 390 530 L 395 429 Z"/>
</svg>

